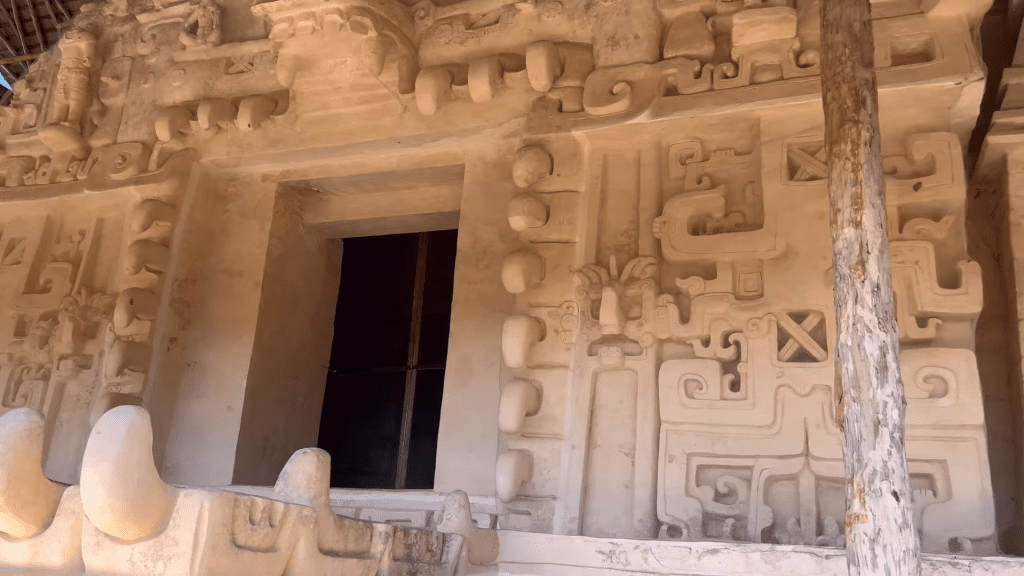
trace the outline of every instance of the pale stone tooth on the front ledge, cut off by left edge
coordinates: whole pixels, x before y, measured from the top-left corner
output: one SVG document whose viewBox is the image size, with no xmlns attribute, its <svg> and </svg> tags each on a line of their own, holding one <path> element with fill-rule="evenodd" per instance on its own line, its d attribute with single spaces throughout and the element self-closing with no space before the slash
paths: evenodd
<svg viewBox="0 0 1024 576">
<path fill-rule="evenodd" d="M 0 416 L 0 532 L 11 538 L 46 530 L 65 490 L 43 476 L 43 427 L 31 408 Z"/>
</svg>

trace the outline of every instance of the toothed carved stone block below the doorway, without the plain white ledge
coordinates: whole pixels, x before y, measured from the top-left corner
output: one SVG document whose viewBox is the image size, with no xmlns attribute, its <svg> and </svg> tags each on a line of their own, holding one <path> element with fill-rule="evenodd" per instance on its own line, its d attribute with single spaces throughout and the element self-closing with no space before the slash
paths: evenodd
<svg viewBox="0 0 1024 576">
<path fill-rule="evenodd" d="M 148 413 L 120 406 L 67 487 L 43 476 L 43 428 L 31 409 L 0 417 L 0 573 L 452 576 L 497 554 L 464 492 L 445 497 L 433 529 L 335 515 L 323 450 L 296 452 L 267 497 L 169 486 Z"/>
</svg>

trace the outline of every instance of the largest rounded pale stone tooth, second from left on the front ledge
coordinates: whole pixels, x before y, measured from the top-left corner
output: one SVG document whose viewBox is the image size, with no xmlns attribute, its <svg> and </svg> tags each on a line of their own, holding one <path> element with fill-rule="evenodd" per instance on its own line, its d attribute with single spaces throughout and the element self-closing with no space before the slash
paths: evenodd
<svg viewBox="0 0 1024 576">
<path fill-rule="evenodd" d="M 175 497 L 153 460 L 150 413 L 119 406 L 103 414 L 82 457 L 82 508 L 89 522 L 115 538 L 136 542 L 163 528 Z"/>
</svg>

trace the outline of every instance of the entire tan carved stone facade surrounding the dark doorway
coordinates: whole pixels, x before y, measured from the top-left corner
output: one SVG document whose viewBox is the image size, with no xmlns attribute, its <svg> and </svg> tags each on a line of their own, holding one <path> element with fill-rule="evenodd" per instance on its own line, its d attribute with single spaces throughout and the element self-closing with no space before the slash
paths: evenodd
<svg viewBox="0 0 1024 576">
<path fill-rule="evenodd" d="M 914 520 L 994 556 L 964 160 L 988 3 L 872 8 Z M 817 14 L 83 8 L 0 112 L 0 567 L 841 571 L 806 548 L 845 545 Z M 982 166 L 1008 159 L 1016 247 L 1012 115 Z M 338 240 L 451 228 L 437 492 L 329 491 Z"/>
</svg>

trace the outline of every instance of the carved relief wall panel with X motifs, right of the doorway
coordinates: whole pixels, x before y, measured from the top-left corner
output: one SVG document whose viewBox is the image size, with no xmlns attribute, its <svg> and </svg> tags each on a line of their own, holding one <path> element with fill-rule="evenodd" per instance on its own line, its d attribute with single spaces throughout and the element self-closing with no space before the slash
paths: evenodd
<svg viewBox="0 0 1024 576">
<path fill-rule="evenodd" d="M 548 342 L 571 345 L 572 375 L 555 401 L 564 402 L 562 425 L 545 424 L 561 449 L 509 440 L 515 449 L 499 459 L 499 486 L 510 487 L 500 492 L 503 522 L 592 536 L 844 545 L 835 320 L 823 265 L 830 244 L 827 221 L 808 230 L 805 219 L 827 208 L 821 140 L 767 146 L 752 134 L 753 142 L 721 150 L 665 141 L 662 210 L 647 224 L 660 249 L 625 264 L 617 257 L 636 254 L 639 238 L 615 225 L 635 221 L 631 203 L 649 202 L 649 193 L 629 192 L 633 180 L 623 175 L 639 158 L 614 164 L 614 177 L 605 172 L 605 192 L 584 198 L 616 195 L 591 200 L 617 222 L 598 224 L 596 251 L 611 256 L 607 265 L 577 264 L 571 305 L 529 305 L 548 276 L 520 273 L 529 281 L 511 290 L 525 305 L 503 335 L 506 362 L 517 370 L 503 393 L 501 430 L 525 434 L 552 402 L 550 376 L 539 374 L 566 357 L 552 356 L 557 348 Z M 915 515 L 926 549 L 992 550 L 981 384 L 964 328 L 982 297 L 980 269 L 967 258 L 957 223 L 966 192 L 961 152 L 954 136 L 941 133 L 913 135 L 905 150 L 886 166 L 890 218 L 899 224 L 892 274 L 909 346 L 901 363 Z M 520 186 L 551 172 L 549 156 L 524 149 L 519 158 Z M 774 158 L 779 166 L 766 171 Z M 522 238 L 546 224 L 549 209 L 525 192 L 513 200 L 509 222 Z M 788 248 L 795 243 L 798 253 Z M 510 258 L 522 261 L 519 253 Z M 814 266 L 800 273 L 797 288 L 794 271 Z M 962 517 L 972 522 L 957 525 Z"/>
</svg>

